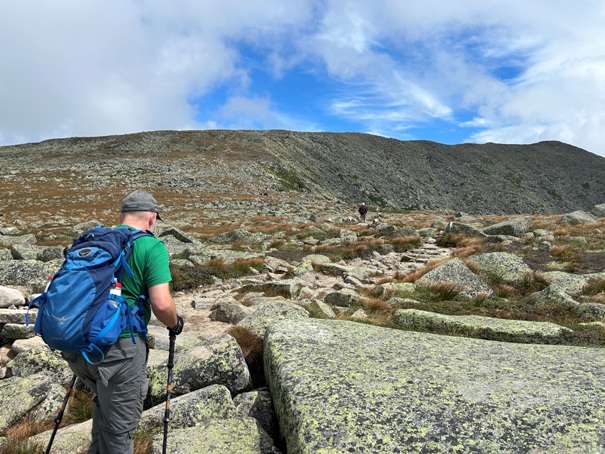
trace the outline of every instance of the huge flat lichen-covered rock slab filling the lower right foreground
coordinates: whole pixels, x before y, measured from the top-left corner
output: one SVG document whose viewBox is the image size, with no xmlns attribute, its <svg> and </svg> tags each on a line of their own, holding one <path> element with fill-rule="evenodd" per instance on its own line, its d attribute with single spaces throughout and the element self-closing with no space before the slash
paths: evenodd
<svg viewBox="0 0 605 454">
<path fill-rule="evenodd" d="M 605 350 L 282 320 L 265 374 L 288 453 L 605 450 Z"/>
</svg>

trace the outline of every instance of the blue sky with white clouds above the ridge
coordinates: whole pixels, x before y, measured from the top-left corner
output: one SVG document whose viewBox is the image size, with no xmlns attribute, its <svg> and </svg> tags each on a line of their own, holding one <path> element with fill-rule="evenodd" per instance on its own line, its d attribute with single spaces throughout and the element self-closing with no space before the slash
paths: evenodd
<svg viewBox="0 0 605 454">
<path fill-rule="evenodd" d="M 0 145 L 159 129 L 605 156 L 600 0 L 0 0 Z"/>
</svg>

